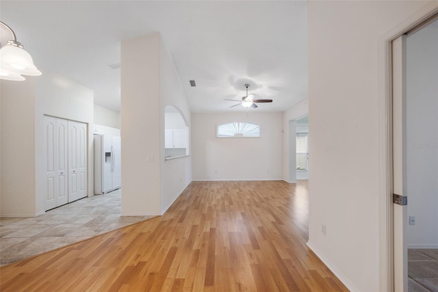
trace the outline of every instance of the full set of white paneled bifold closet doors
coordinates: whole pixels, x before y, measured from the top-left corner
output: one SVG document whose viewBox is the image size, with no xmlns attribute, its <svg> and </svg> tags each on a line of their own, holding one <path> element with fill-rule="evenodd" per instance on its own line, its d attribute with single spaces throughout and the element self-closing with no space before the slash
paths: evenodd
<svg viewBox="0 0 438 292">
<path fill-rule="evenodd" d="M 87 125 L 44 116 L 44 209 L 86 197 Z"/>
</svg>

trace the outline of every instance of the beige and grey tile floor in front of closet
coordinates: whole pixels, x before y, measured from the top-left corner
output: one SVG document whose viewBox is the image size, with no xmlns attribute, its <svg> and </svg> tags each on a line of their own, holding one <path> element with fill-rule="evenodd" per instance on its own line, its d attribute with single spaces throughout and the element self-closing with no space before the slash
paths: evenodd
<svg viewBox="0 0 438 292">
<path fill-rule="evenodd" d="M 153 216 L 120 216 L 121 191 L 85 197 L 32 218 L 0 218 L 0 266 Z"/>
</svg>

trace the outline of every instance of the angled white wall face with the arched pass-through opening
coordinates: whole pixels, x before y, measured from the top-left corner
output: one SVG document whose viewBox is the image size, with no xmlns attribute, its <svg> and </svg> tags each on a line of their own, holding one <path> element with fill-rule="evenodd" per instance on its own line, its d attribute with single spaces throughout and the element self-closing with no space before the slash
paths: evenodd
<svg viewBox="0 0 438 292">
<path fill-rule="evenodd" d="M 176 158 L 174 160 L 164 160 L 165 150 L 164 150 L 164 129 L 165 129 L 165 119 L 167 123 L 172 123 L 172 121 L 178 121 L 181 125 L 186 125 L 188 133 L 188 151 L 190 153 L 190 125 L 192 123 L 191 112 L 188 106 L 187 99 L 185 99 L 185 94 L 181 86 L 181 82 L 175 70 L 175 66 L 170 53 L 166 49 L 163 41 L 160 41 L 159 48 L 159 58 L 160 58 L 160 144 L 161 152 L 159 156 L 159 161 L 161 162 L 161 212 L 164 213 L 170 205 L 175 202 L 175 199 L 183 192 L 184 188 L 192 182 L 192 158 L 190 156 L 185 156 L 182 158 Z M 165 114 L 166 106 L 173 106 L 179 110 L 179 118 L 172 117 L 171 113 Z M 174 114 L 175 115 L 175 114 Z M 184 121 L 181 121 L 183 117 Z M 170 119 L 169 119 L 170 118 Z M 181 123 L 183 122 L 183 123 Z M 177 127 L 176 124 L 172 124 L 174 129 L 181 128 Z M 184 128 L 184 127 L 182 127 Z"/>
</svg>

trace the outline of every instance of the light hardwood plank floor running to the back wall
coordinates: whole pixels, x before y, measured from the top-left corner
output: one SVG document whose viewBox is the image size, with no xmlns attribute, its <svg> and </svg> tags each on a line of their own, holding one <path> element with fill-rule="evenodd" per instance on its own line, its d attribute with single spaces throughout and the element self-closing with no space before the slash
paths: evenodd
<svg viewBox="0 0 438 292">
<path fill-rule="evenodd" d="M 0 268 L 0 291 L 348 291 L 307 220 L 306 181 L 192 182 L 162 217 Z"/>
</svg>

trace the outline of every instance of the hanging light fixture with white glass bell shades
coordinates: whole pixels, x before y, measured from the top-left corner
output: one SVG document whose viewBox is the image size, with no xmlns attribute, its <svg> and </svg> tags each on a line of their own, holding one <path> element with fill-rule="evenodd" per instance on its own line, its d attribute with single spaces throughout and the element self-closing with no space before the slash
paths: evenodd
<svg viewBox="0 0 438 292">
<path fill-rule="evenodd" d="M 22 75 L 41 75 L 30 54 L 23 49 L 20 42 L 16 41 L 14 31 L 1 21 L 0 30 L 1 34 L 6 36 L 6 38 L 2 36 L 0 42 L 0 79 L 23 81 L 25 77 Z"/>
</svg>

